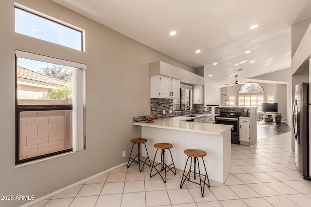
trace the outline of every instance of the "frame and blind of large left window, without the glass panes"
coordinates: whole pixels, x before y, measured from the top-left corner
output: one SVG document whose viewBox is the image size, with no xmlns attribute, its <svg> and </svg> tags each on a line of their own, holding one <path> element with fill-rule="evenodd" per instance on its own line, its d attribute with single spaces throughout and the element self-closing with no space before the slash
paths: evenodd
<svg viewBox="0 0 311 207">
<path fill-rule="evenodd" d="M 73 79 L 73 99 L 72 104 L 46 104 L 46 105 L 18 105 L 18 94 L 17 94 L 17 59 L 26 58 L 30 60 L 36 60 L 41 62 L 47 62 L 52 64 L 66 65 L 76 68 L 76 72 L 73 74 L 76 80 Z M 79 71 L 80 70 L 80 71 Z M 16 158 L 15 164 L 22 164 L 29 161 L 35 161 L 42 158 L 52 157 L 67 152 L 77 152 L 86 149 L 86 137 L 85 137 L 85 71 L 86 65 L 75 62 L 70 62 L 58 58 L 48 57 L 44 55 L 29 53 L 25 51 L 16 50 L 15 54 L 15 119 L 16 119 Z M 75 91 L 75 92 L 74 92 Z M 72 111 L 72 148 L 52 152 L 32 158 L 20 159 L 20 113 L 22 111 Z"/>
</svg>

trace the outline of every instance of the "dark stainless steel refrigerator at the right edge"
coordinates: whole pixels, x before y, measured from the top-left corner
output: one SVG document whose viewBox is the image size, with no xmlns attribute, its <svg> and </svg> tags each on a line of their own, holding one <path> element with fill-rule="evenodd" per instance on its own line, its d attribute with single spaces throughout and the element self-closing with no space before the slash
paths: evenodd
<svg viewBox="0 0 311 207">
<path fill-rule="evenodd" d="M 295 162 L 298 171 L 304 179 L 311 180 L 310 176 L 310 84 L 300 83 L 295 86 L 295 100 L 293 107 L 293 125 L 295 136 Z"/>
</svg>

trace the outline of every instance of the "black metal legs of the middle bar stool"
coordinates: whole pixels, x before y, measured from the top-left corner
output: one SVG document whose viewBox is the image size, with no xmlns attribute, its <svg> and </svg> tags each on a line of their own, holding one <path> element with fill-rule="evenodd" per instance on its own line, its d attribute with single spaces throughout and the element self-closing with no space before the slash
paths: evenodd
<svg viewBox="0 0 311 207">
<path fill-rule="evenodd" d="M 155 157 L 156 157 L 156 153 L 157 153 L 158 150 L 159 150 L 159 149 L 157 149 L 157 150 L 155 151 Z M 168 150 L 170 150 L 170 149 L 168 149 Z M 171 150 L 170 150 L 170 154 L 171 154 L 171 158 L 172 158 L 172 161 L 173 161 L 173 156 L 172 156 Z M 158 170 L 156 169 L 156 166 L 158 166 L 158 165 L 160 165 L 160 171 L 158 171 Z M 173 167 L 170 167 L 171 165 L 173 165 Z M 166 170 L 167 168 L 168 168 L 168 170 Z M 150 177 L 154 176 L 154 175 L 152 175 L 152 170 L 153 170 L 153 169 L 155 169 L 155 171 L 156 171 L 156 173 L 155 173 L 154 175 L 159 174 L 164 182 L 166 182 L 166 173 L 167 173 L 167 172 L 172 171 L 173 174 L 176 175 L 176 169 L 175 169 L 174 161 L 173 161 L 173 163 L 170 164 L 170 165 L 167 165 L 167 164 L 166 164 L 165 150 L 164 150 L 164 149 L 161 149 L 161 162 L 158 163 L 157 165 L 155 165 L 155 159 L 154 159 L 154 161 L 153 161 L 153 163 L 152 163 L 151 171 L 150 171 Z M 172 169 L 173 169 L 174 171 L 173 171 Z M 164 171 L 165 178 L 163 178 L 163 176 L 161 175 L 161 172 L 162 172 L 162 171 Z"/>
</svg>

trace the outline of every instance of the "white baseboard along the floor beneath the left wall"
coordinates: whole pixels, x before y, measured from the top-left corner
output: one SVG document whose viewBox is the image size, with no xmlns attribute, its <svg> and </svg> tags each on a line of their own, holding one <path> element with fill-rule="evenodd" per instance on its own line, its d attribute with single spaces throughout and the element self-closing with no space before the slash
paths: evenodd
<svg viewBox="0 0 311 207">
<path fill-rule="evenodd" d="M 45 199 L 47 199 L 47 198 L 50 198 L 50 197 L 52 197 L 53 195 L 56 195 L 56 194 L 58 194 L 58 193 L 60 193 L 60 192 L 62 192 L 62 191 L 66 191 L 66 190 L 68 190 L 68 189 L 70 189 L 70 188 L 72 188 L 72 187 L 75 187 L 75 186 L 77 186 L 77 185 L 80 185 L 81 183 L 84 183 L 84 182 L 86 182 L 86 181 L 88 181 L 88 180 L 91 180 L 91 179 L 93 179 L 93 178 L 95 178 L 95 177 L 97 177 L 97 176 L 99 176 L 99 175 L 103 175 L 103 174 L 108 173 L 108 172 L 110 172 L 110 171 L 112 171 L 112 170 L 115 170 L 115 169 L 117 169 L 117 168 L 119 168 L 119 167 L 121 167 L 121 166 L 123 166 L 123 165 L 125 165 L 125 164 L 127 164 L 127 161 L 124 162 L 124 163 L 122 163 L 122 164 L 120 164 L 120 165 L 117 165 L 117 166 L 115 166 L 115 167 L 112 167 L 112 168 L 110 168 L 110 169 L 108 169 L 108 170 L 105 170 L 105 171 L 103 171 L 103 172 L 101 172 L 101 173 L 98 173 L 98 174 L 96 174 L 96 175 L 92 175 L 92 176 L 90 176 L 90 177 L 87 177 L 86 179 L 80 180 L 80 181 L 78 181 L 78 182 L 76 182 L 76 183 L 73 183 L 73 184 L 71 184 L 71 185 L 69 185 L 69 186 L 66 186 L 65 188 L 62 188 L 62 189 L 60 189 L 60 190 L 51 192 L 51 193 L 49 193 L 49 194 L 47 194 L 47 195 L 44 195 L 44 196 L 42 196 L 42 197 L 40 197 L 40 198 L 38 198 L 38 199 L 35 199 L 35 200 L 33 200 L 33 201 L 31 201 L 31 202 L 29 202 L 29 203 L 27 203 L 27 204 L 24 204 L 24 205 L 22 205 L 22 206 L 19 206 L 19 207 L 29 207 L 29 206 L 31 206 L 31 205 L 34 205 L 35 203 L 38 203 L 38 202 L 43 201 L 43 200 L 45 200 Z"/>
</svg>

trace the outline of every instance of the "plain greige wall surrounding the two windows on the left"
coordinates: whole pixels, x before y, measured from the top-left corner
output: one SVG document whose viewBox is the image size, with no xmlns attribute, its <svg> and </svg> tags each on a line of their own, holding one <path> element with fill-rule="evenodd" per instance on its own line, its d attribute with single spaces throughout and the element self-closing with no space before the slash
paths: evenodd
<svg viewBox="0 0 311 207">
<path fill-rule="evenodd" d="M 194 72 L 152 48 L 49 0 L 16 0 L 86 30 L 86 52 L 14 33 L 14 1 L 0 6 L 0 195 L 39 198 L 127 161 L 140 137 L 132 117 L 150 113 L 149 63 L 164 61 Z M 86 150 L 15 166 L 15 49 L 87 64 Z M 28 201 L 0 201 L 16 207 Z"/>
</svg>

